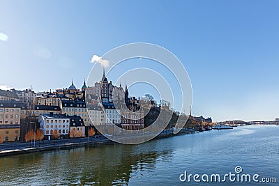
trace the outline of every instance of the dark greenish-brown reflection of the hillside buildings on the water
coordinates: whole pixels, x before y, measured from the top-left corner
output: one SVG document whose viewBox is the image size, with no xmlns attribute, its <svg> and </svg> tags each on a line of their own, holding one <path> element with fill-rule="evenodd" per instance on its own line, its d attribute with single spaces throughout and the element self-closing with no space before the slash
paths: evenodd
<svg viewBox="0 0 279 186">
<path fill-rule="evenodd" d="M 114 144 L 0 159 L 4 185 L 128 185 L 133 171 L 154 169 L 156 161 L 168 161 L 171 150 L 156 141 L 128 146 Z M 22 178 L 23 176 L 23 178 Z"/>
</svg>

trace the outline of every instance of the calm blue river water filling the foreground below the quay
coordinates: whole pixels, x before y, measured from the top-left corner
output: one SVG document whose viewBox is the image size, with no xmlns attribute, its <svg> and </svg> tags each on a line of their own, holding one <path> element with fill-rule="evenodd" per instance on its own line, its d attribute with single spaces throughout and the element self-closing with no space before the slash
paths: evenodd
<svg viewBox="0 0 279 186">
<path fill-rule="evenodd" d="M 211 174 L 259 174 L 211 181 Z M 185 173 L 199 174 L 181 182 Z M 202 175 L 207 183 L 202 181 Z M 181 177 L 181 180 L 179 179 Z M 235 176 L 236 178 L 236 176 Z M 251 177 L 252 179 L 252 177 Z M 0 158 L 0 185 L 279 185 L 279 126 L 183 134 L 140 145 L 105 145 Z"/>
</svg>

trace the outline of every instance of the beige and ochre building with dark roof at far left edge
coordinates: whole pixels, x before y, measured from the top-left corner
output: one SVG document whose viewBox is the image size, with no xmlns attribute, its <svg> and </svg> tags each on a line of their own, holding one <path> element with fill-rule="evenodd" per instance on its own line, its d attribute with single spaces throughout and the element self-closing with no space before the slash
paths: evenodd
<svg viewBox="0 0 279 186">
<path fill-rule="evenodd" d="M 3 141 L 20 139 L 21 107 L 21 102 L 0 100 L 0 137 Z"/>
</svg>

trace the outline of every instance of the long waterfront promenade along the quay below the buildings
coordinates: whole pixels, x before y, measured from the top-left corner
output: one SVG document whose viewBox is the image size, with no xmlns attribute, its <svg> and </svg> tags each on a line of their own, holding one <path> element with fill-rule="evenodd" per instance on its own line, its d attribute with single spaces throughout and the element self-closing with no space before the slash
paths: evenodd
<svg viewBox="0 0 279 186">
<path fill-rule="evenodd" d="M 155 139 L 172 137 L 178 134 L 190 134 L 198 132 L 198 129 L 182 129 L 178 134 L 173 133 L 174 130 L 163 130 Z M 126 137 L 127 140 L 133 140 L 133 138 L 141 137 L 142 134 L 135 134 L 134 136 Z M 145 134 L 149 136 L 152 134 Z M 121 136 L 116 138 L 123 138 Z M 17 155 L 24 153 L 35 153 L 46 150 L 59 150 L 70 149 L 80 146 L 100 146 L 104 144 L 114 144 L 114 141 L 107 139 L 106 137 L 89 137 L 89 138 L 76 138 L 76 139 L 57 139 L 57 140 L 43 140 L 31 142 L 10 142 L 0 144 L 0 157 L 7 155 Z"/>
</svg>

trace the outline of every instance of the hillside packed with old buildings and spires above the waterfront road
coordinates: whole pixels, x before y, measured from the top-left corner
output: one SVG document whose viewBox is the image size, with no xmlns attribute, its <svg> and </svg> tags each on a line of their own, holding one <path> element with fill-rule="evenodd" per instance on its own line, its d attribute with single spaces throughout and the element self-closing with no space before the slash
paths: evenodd
<svg viewBox="0 0 279 186">
<path fill-rule="evenodd" d="M 160 113 L 163 117 L 157 122 L 169 121 L 167 128 L 175 127 L 179 116 L 186 127 L 212 122 L 211 118 L 183 115 L 148 97 L 152 96 L 130 96 L 127 86 L 114 86 L 105 72 L 94 86 L 86 86 L 84 81 L 77 88 L 72 81 L 68 88 L 55 91 L 0 90 L 0 137 L 2 141 L 24 141 L 30 130 L 35 132 L 38 128 L 45 139 L 54 134 L 64 139 L 85 137 L 93 126 L 141 130 L 156 121 Z"/>
</svg>

